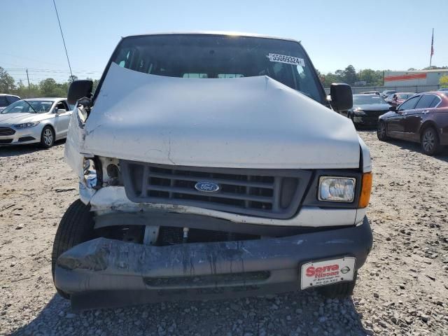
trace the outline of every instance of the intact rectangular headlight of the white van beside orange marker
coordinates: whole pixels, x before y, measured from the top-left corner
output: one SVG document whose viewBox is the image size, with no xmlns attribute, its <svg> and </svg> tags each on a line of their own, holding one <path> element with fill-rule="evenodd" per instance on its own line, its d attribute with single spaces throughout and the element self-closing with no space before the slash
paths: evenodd
<svg viewBox="0 0 448 336">
<path fill-rule="evenodd" d="M 319 201 L 351 203 L 355 199 L 356 179 L 351 177 L 321 176 Z"/>
</svg>

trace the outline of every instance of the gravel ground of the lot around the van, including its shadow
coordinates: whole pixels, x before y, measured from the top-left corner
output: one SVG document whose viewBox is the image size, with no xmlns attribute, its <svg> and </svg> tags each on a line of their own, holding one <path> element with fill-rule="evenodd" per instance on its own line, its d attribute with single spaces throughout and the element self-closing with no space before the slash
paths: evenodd
<svg viewBox="0 0 448 336">
<path fill-rule="evenodd" d="M 77 198 L 63 144 L 0 148 L 1 335 L 448 335 L 448 151 L 377 141 L 368 211 L 374 249 L 351 299 L 316 292 L 74 313 L 50 270 L 59 219 Z"/>
</svg>

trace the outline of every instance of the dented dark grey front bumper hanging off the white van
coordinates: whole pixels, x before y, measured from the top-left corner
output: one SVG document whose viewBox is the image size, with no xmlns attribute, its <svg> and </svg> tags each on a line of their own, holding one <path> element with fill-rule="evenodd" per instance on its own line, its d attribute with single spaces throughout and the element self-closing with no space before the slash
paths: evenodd
<svg viewBox="0 0 448 336">
<path fill-rule="evenodd" d="M 98 238 L 59 256 L 55 286 L 73 309 L 167 300 L 198 300 L 300 289 L 300 265 L 352 256 L 355 268 L 372 248 L 367 218 L 349 228 L 283 238 L 146 246 Z"/>
</svg>

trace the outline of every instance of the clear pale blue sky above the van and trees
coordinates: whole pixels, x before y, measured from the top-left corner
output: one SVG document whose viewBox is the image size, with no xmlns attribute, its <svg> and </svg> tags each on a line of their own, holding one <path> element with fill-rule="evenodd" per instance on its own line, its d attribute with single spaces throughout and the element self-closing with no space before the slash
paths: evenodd
<svg viewBox="0 0 448 336">
<path fill-rule="evenodd" d="M 448 1 L 56 0 L 73 74 L 99 78 L 121 36 L 247 31 L 302 41 L 323 73 L 448 65 Z M 52 0 L 1 0 L 0 66 L 33 83 L 69 76 Z"/>
</svg>

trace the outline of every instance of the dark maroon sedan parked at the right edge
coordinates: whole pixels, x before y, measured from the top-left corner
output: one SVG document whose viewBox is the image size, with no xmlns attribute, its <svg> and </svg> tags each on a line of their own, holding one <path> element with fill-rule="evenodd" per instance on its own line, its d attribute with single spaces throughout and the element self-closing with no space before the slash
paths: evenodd
<svg viewBox="0 0 448 336">
<path fill-rule="evenodd" d="M 418 142 L 423 153 L 435 155 L 448 145 L 448 92 L 415 94 L 378 120 L 378 139 Z"/>
</svg>

